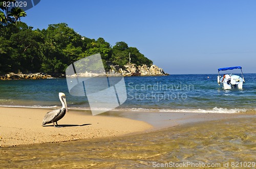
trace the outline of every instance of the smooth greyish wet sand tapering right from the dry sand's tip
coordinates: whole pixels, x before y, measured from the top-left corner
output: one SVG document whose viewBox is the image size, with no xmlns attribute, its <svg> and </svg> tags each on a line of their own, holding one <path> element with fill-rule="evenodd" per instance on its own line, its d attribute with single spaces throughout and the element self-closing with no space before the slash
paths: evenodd
<svg viewBox="0 0 256 169">
<path fill-rule="evenodd" d="M 110 112 L 114 114 L 114 112 Z M 197 124 L 214 120 L 228 120 L 241 118 L 255 118 L 254 112 L 225 114 L 225 113 L 196 113 L 196 112 L 119 112 L 120 117 L 147 122 L 154 128 L 152 130 L 161 130 L 169 127 Z"/>
</svg>

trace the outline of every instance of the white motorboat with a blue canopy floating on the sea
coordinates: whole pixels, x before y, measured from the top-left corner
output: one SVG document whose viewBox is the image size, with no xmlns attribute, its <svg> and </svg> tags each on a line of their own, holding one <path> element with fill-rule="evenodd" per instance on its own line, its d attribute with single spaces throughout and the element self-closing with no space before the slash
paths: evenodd
<svg viewBox="0 0 256 169">
<path fill-rule="evenodd" d="M 220 76 L 220 71 L 225 70 L 233 70 L 233 69 L 240 69 L 241 70 L 241 76 L 234 75 L 234 74 L 224 74 L 222 77 Z M 226 67 L 226 68 L 219 68 L 218 69 L 218 84 L 222 83 L 224 90 L 227 89 L 243 89 L 243 83 L 245 82 L 243 71 L 241 66 L 235 66 L 235 67 Z"/>
</svg>

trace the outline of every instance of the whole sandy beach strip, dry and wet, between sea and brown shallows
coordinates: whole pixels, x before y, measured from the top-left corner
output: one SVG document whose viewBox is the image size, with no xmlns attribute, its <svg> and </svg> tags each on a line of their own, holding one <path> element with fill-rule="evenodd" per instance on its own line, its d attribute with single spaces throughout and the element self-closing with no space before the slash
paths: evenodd
<svg viewBox="0 0 256 169">
<path fill-rule="evenodd" d="M 92 116 L 90 110 L 70 109 L 58 124 L 41 126 L 51 108 L 0 107 L 0 147 L 59 143 L 152 132 L 206 121 L 254 117 L 254 114 L 143 112 L 114 110 Z"/>
</svg>

